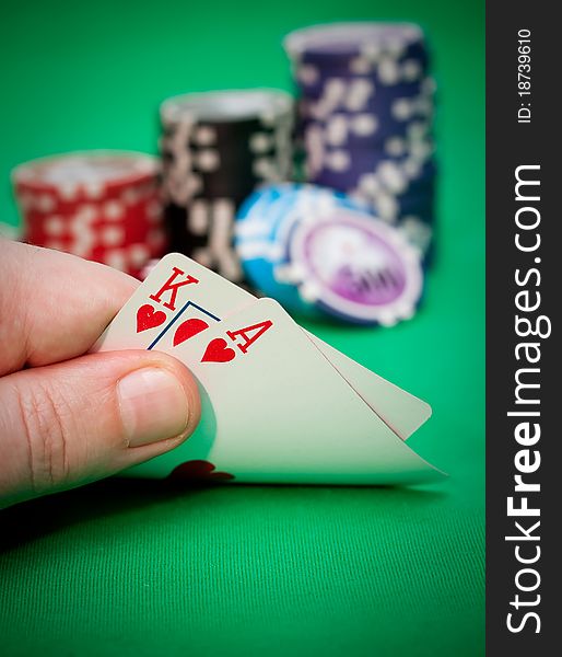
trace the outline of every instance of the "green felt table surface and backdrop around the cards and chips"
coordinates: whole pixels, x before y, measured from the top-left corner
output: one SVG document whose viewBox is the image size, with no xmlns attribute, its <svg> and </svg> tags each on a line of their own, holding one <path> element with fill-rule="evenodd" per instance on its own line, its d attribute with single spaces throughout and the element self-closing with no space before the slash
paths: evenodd
<svg viewBox="0 0 562 657">
<path fill-rule="evenodd" d="M 292 28 L 390 19 L 428 31 L 441 189 L 426 301 L 391 330 L 306 325 L 433 405 L 411 446 L 450 477 L 187 493 L 112 480 L 5 510 L 0 653 L 482 654 L 483 2 L 35 0 L 1 13 L 0 217 L 11 223 L 17 162 L 154 152 L 168 95 L 290 89 L 280 42 Z"/>
</svg>

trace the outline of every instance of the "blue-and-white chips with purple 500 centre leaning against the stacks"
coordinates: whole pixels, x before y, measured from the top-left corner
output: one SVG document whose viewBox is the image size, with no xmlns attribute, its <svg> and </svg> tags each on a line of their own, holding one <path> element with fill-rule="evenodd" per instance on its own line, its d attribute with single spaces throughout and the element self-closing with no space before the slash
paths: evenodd
<svg viewBox="0 0 562 657">
<path fill-rule="evenodd" d="M 365 206 L 326 187 L 256 191 L 236 220 L 248 280 L 288 310 L 390 326 L 420 300 L 420 254 Z"/>
</svg>

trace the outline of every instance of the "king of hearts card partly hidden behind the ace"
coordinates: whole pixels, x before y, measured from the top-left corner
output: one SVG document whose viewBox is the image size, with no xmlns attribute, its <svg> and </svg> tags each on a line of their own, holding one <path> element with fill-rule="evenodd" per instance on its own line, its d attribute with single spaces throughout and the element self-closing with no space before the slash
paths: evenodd
<svg viewBox="0 0 562 657">
<path fill-rule="evenodd" d="M 160 261 L 92 351 L 174 347 L 256 298 L 179 253 Z M 402 439 L 431 415 L 425 402 L 361 367 L 312 333 L 306 335 L 363 400 Z"/>
</svg>

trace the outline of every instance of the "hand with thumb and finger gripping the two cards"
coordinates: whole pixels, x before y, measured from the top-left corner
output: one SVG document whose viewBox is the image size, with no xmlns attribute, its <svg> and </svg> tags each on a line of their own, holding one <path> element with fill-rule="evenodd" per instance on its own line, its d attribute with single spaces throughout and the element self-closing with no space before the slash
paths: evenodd
<svg viewBox="0 0 562 657">
<path fill-rule="evenodd" d="M 90 354 L 138 281 L 0 239 L 0 507 L 157 457 L 200 416 L 197 384 L 156 351 Z"/>
</svg>

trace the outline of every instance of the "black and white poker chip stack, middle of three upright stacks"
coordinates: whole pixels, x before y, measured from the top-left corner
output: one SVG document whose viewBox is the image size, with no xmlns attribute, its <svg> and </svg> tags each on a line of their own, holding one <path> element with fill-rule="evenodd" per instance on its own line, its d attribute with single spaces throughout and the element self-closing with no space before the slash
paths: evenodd
<svg viewBox="0 0 562 657">
<path fill-rule="evenodd" d="M 241 203 L 292 171 L 293 101 L 274 90 L 172 97 L 161 106 L 163 189 L 171 247 L 241 283 L 233 247 Z"/>
</svg>

